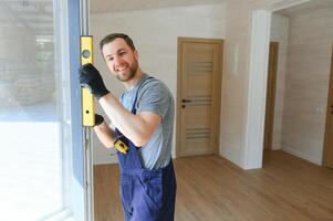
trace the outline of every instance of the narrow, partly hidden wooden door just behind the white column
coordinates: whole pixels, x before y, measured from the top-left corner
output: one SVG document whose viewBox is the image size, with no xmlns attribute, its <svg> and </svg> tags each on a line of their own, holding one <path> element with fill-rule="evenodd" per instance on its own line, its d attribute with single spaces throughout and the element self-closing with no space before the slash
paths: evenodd
<svg viewBox="0 0 333 221">
<path fill-rule="evenodd" d="M 279 42 L 270 43 L 263 149 L 272 149 Z"/>
</svg>

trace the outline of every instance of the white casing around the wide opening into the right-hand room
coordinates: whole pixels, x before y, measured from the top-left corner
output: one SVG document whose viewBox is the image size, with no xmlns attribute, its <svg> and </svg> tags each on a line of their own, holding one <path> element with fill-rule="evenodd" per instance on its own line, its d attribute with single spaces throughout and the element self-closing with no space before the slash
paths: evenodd
<svg viewBox="0 0 333 221">
<path fill-rule="evenodd" d="M 271 14 L 308 1 L 310 0 L 283 0 L 272 4 L 270 9 L 252 11 L 244 169 L 262 167 Z"/>
</svg>

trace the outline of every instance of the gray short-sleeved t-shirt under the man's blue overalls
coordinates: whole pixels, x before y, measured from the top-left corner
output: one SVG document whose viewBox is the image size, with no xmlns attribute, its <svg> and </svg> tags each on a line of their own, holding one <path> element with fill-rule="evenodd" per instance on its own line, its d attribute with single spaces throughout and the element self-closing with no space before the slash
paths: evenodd
<svg viewBox="0 0 333 221">
<path fill-rule="evenodd" d="M 160 124 L 152 138 L 138 149 L 138 155 L 146 169 L 166 167 L 171 157 L 175 102 L 168 87 L 156 78 L 143 74 L 141 81 L 131 91 L 121 96 L 122 105 L 132 110 L 137 90 L 136 113 L 152 112 L 160 116 Z"/>
</svg>

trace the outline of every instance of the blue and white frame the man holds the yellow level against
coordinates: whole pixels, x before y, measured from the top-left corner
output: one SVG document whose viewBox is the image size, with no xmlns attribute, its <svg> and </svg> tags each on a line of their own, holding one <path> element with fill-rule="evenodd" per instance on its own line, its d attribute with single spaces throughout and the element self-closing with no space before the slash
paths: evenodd
<svg viewBox="0 0 333 221">
<path fill-rule="evenodd" d="M 93 221 L 93 164 L 90 129 L 82 126 L 82 97 L 77 77 L 80 67 L 80 36 L 89 25 L 89 0 L 64 1 L 67 4 L 67 41 L 71 84 L 72 125 L 72 191 L 71 209 L 73 220 Z M 85 33 L 86 34 L 86 33 Z"/>
</svg>

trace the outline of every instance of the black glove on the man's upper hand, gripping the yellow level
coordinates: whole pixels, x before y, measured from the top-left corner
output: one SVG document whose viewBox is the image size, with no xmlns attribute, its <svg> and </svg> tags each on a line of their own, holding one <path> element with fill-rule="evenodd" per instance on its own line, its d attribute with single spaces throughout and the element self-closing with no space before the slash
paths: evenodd
<svg viewBox="0 0 333 221">
<path fill-rule="evenodd" d="M 79 70 L 79 74 L 80 84 L 87 87 L 97 99 L 110 93 L 104 85 L 100 72 L 91 63 L 82 65 Z"/>
</svg>

